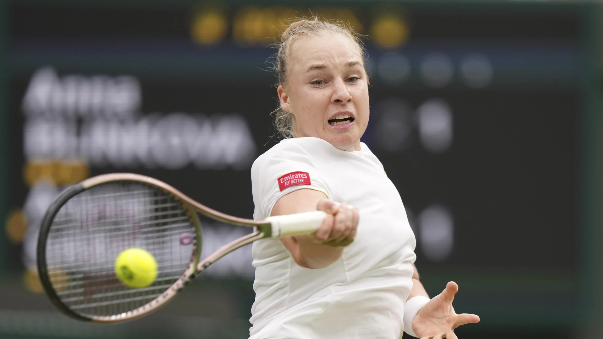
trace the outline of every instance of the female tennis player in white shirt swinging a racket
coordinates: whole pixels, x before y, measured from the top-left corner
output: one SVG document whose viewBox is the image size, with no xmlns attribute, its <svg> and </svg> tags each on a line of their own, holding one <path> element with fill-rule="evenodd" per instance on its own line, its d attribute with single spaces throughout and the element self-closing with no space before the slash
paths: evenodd
<svg viewBox="0 0 603 339">
<path fill-rule="evenodd" d="M 360 142 L 368 123 L 363 49 L 350 29 L 289 25 L 277 52 L 285 139 L 251 168 L 254 218 L 325 211 L 312 235 L 253 243 L 251 339 L 457 338 L 479 322 L 452 308 L 458 285 L 429 299 L 396 187 Z"/>
</svg>

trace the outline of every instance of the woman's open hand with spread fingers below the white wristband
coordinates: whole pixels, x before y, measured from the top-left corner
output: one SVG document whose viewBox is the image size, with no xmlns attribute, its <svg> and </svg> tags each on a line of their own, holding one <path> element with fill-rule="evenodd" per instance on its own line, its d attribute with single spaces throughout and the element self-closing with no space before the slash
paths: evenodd
<svg viewBox="0 0 603 339">
<path fill-rule="evenodd" d="M 446 289 L 429 300 L 423 308 L 418 311 L 412 321 L 412 330 L 421 339 L 458 339 L 454 329 L 468 323 L 479 322 L 475 314 L 456 314 L 452 307 L 454 295 L 458 292 L 458 285 L 449 282 Z"/>
</svg>

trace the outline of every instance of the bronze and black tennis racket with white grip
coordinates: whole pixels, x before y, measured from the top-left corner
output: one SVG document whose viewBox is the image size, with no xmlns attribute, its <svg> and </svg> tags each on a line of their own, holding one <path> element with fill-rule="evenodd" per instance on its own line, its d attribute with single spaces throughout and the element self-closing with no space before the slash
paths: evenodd
<svg viewBox="0 0 603 339">
<path fill-rule="evenodd" d="M 255 229 L 200 260 L 197 212 Z M 325 216 L 314 211 L 259 221 L 237 218 L 151 177 L 104 174 L 65 189 L 46 211 L 37 244 L 39 276 L 65 314 L 95 323 L 123 322 L 165 305 L 233 250 L 262 238 L 312 233 Z M 130 248 L 147 250 L 157 261 L 157 277 L 148 287 L 127 287 L 116 276 L 115 260 Z"/>
</svg>

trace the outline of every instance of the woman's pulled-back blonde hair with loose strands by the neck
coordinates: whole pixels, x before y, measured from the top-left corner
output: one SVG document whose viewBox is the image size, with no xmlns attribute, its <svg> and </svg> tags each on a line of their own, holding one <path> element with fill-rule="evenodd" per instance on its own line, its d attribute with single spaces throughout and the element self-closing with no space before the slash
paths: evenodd
<svg viewBox="0 0 603 339">
<path fill-rule="evenodd" d="M 349 37 L 358 47 L 358 52 L 362 56 L 363 63 L 365 57 L 365 49 L 362 46 L 361 35 L 356 33 L 349 24 L 343 21 L 329 21 L 326 19 L 319 19 L 318 16 L 314 16 L 311 19 L 308 18 L 296 18 L 295 22 L 291 22 L 289 27 L 280 36 L 280 42 L 276 43 L 278 51 L 274 55 L 273 69 L 277 74 L 276 86 L 283 86 L 288 80 L 289 71 L 289 57 L 291 57 L 291 46 L 299 40 L 317 36 L 318 34 L 337 33 L 343 36 Z M 272 113 L 274 115 L 274 127 L 276 133 L 283 138 L 293 138 L 293 116 L 291 113 L 286 112 L 279 107 Z"/>
</svg>

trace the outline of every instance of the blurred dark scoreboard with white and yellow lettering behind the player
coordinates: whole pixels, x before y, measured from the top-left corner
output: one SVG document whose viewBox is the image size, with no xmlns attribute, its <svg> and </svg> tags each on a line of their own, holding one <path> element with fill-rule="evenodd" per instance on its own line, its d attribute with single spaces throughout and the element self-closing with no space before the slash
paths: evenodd
<svg viewBox="0 0 603 339">
<path fill-rule="evenodd" d="M 277 142 L 271 44 L 309 8 L 366 36 L 362 140 L 399 189 L 429 293 L 456 280 L 456 308 L 489 326 L 572 323 L 594 300 L 601 228 L 596 7 L 349 4 L 10 4 L 7 270 L 34 270 L 46 207 L 96 174 L 251 218 L 251 163 Z M 206 254 L 244 230 L 204 232 Z M 250 262 L 247 247 L 207 276 L 250 280 Z"/>
</svg>

